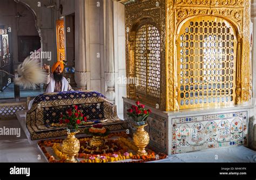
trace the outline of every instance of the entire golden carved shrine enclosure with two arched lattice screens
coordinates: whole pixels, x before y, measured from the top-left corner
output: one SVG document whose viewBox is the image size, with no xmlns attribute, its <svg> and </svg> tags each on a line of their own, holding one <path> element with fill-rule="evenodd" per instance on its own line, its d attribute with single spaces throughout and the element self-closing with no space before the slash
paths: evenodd
<svg viewBox="0 0 256 180">
<path fill-rule="evenodd" d="M 123 2 L 128 98 L 166 111 L 249 102 L 249 0 Z"/>
</svg>

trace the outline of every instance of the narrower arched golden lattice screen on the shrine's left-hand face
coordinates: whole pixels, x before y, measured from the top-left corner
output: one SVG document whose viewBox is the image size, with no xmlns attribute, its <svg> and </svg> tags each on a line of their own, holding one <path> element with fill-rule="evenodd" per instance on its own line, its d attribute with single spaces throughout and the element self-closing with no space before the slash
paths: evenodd
<svg viewBox="0 0 256 180">
<path fill-rule="evenodd" d="M 136 31 L 134 61 L 136 95 L 160 100 L 160 34 L 156 26 L 144 24 Z"/>
</svg>

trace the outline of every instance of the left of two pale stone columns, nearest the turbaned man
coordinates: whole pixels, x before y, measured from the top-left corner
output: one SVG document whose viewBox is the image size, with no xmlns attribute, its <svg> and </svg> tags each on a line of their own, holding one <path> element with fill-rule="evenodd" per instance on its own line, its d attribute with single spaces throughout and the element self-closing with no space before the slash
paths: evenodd
<svg viewBox="0 0 256 180">
<path fill-rule="evenodd" d="M 77 87 L 87 89 L 85 1 L 75 1 L 75 81 Z"/>
</svg>

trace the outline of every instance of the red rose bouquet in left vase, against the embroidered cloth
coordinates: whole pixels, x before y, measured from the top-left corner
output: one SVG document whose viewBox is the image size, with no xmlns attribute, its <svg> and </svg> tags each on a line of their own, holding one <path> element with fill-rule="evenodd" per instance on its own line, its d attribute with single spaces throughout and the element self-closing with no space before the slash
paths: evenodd
<svg viewBox="0 0 256 180">
<path fill-rule="evenodd" d="M 68 126 L 68 129 L 72 131 L 77 131 L 78 126 L 85 123 L 87 118 L 84 117 L 84 114 L 78 110 L 78 106 L 73 106 L 73 109 L 68 109 L 66 115 L 60 114 L 60 124 L 65 123 Z"/>
</svg>

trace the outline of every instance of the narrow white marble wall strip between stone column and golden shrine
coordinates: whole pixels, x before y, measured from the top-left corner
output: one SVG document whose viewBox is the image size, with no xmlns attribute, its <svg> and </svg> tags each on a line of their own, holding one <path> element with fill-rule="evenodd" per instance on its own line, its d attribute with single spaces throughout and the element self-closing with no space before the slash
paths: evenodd
<svg viewBox="0 0 256 180">
<path fill-rule="evenodd" d="M 123 119 L 123 99 L 126 97 L 126 84 L 119 83 L 119 79 L 124 79 L 125 74 L 125 6 L 114 2 L 114 69 L 115 69 L 115 94 L 117 113 Z"/>
</svg>

